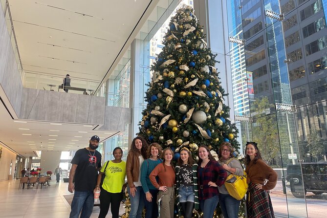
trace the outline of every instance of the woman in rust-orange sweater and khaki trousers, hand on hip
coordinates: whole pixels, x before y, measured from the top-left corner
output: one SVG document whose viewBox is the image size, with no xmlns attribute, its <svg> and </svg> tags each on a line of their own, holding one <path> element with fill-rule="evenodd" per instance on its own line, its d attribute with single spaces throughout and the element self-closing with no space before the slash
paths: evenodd
<svg viewBox="0 0 327 218">
<path fill-rule="evenodd" d="M 158 164 L 149 175 L 150 181 L 155 188 L 159 190 L 157 203 L 160 208 L 160 217 L 174 217 L 174 183 L 175 170 L 172 165 L 173 151 L 166 148 L 163 151 L 162 164 Z M 155 180 L 155 176 L 159 177 L 159 184 Z"/>
</svg>

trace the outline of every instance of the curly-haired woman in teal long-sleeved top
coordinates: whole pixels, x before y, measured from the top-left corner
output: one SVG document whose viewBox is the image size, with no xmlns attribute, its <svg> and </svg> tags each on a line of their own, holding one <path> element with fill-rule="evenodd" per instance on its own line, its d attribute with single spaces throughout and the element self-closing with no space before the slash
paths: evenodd
<svg viewBox="0 0 327 218">
<path fill-rule="evenodd" d="M 162 160 L 158 158 L 161 153 L 161 146 L 158 143 L 152 143 L 148 149 L 148 156 L 150 158 L 146 159 L 141 166 L 141 183 L 146 196 L 145 218 L 157 218 L 159 216 L 157 205 L 157 195 L 159 190 L 154 188 L 149 179 L 149 175 L 153 169 L 162 162 Z"/>
</svg>

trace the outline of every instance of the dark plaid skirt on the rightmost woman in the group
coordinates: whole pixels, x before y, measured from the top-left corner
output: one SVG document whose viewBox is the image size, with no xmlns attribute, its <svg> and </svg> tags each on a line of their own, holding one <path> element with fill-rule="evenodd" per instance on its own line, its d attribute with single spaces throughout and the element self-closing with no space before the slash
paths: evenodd
<svg viewBox="0 0 327 218">
<path fill-rule="evenodd" d="M 246 193 L 247 218 L 275 218 L 270 196 L 266 190 L 257 190 L 250 183 Z"/>
</svg>

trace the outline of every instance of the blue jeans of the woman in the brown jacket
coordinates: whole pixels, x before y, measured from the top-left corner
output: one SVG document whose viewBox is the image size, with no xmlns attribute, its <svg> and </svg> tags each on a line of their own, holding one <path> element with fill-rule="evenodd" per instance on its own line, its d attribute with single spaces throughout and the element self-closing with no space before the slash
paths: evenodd
<svg viewBox="0 0 327 218">
<path fill-rule="evenodd" d="M 144 209 L 145 194 L 142 186 L 136 186 L 135 196 L 131 196 L 130 187 L 127 188 L 131 199 L 131 211 L 129 218 L 142 218 L 142 211 Z"/>
</svg>

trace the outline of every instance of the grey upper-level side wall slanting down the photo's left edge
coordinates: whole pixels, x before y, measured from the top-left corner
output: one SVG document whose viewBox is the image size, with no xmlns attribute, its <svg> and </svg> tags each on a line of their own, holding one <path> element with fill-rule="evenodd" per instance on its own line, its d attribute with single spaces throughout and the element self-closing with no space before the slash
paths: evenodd
<svg viewBox="0 0 327 218">
<path fill-rule="evenodd" d="M 22 101 L 22 80 L 2 8 L 0 10 L 0 88 L 6 95 L 1 98 L 10 102 L 7 108 L 12 108 L 14 111 L 11 112 L 19 114 Z"/>
</svg>

